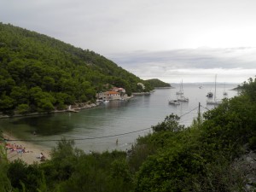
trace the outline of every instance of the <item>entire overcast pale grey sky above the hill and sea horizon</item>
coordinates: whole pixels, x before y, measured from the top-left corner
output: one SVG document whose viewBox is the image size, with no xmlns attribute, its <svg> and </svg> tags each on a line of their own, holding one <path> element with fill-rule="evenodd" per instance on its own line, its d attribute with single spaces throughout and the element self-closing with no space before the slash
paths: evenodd
<svg viewBox="0 0 256 192">
<path fill-rule="evenodd" d="M 255 0 L 0 0 L 0 22 L 91 49 L 141 79 L 256 75 Z"/>
</svg>

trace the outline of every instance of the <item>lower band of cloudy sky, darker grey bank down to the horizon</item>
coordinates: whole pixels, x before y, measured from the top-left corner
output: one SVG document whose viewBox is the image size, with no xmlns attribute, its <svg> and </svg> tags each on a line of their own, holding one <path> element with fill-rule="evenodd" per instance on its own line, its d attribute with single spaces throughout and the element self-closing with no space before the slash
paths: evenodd
<svg viewBox="0 0 256 192">
<path fill-rule="evenodd" d="M 255 53 L 255 48 L 139 50 L 108 58 L 142 79 L 206 82 L 218 73 L 220 82 L 241 83 L 256 74 Z"/>
</svg>

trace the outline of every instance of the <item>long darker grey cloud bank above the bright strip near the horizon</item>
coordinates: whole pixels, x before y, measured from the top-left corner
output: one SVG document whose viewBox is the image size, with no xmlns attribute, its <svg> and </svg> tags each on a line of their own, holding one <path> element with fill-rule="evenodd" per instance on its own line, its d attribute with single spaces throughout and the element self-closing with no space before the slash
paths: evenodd
<svg viewBox="0 0 256 192">
<path fill-rule="evenodd" d="M 248 53 L 247 53 L 248 52 Z M 169 68 L 255 68 L 256 49 L 177 49 L 162 52 L 138 51 L 110 55 L 110 59 L 124 67 L 160 66 Z"/>
</svg>

